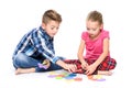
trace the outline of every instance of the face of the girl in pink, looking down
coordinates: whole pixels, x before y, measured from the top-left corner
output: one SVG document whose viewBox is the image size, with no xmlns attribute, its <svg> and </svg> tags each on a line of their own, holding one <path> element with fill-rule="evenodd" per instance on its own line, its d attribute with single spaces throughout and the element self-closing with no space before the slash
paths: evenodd
<svg viewBox="0 0 132 88">
<path fill-rule="evenodd" d="M 88 20 L 86 22 L 86 28 L 87 32 L 89 33 L 89 37 L 96 38 L 99 35 L 100 30 L 102 29 L 102 24 L 99 24 L 98 21 Z"/>
</svg>

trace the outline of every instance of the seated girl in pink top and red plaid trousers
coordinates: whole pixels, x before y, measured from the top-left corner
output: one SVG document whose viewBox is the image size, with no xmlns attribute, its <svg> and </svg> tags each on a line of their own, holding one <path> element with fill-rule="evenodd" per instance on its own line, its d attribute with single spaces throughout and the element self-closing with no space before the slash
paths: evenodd
<svg viewBox="0 0 132 88">
<path fill-rule="evenodd" d="M 110 57 L 109 32 L 103 30 L 102 14 L 91 11 L 86 20 L 87 31 L 82 32 L 78 50 L 81 68 L 87 75 L 111 75 L 117 62 Z M 84 51 L 86 48 L 86 55 Z"/>
</svg>

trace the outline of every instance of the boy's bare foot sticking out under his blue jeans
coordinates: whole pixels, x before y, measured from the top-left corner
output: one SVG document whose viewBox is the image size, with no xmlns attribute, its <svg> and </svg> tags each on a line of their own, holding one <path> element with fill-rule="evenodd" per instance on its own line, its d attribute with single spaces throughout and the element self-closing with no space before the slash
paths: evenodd
<svg viewBox="0 0 132 88">
<path fill-rule="evenodd" d="M 35 73 L 35 68 L 18 68 L 15 75 Z"/>
</svg>

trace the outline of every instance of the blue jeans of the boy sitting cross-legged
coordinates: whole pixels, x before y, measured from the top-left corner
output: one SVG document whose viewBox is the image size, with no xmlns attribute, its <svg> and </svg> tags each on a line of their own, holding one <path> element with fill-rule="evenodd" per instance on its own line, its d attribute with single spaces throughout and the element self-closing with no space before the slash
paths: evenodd
<svg viewBox="0 0 132 88">
<path fill-rule="evenodd" d="M 47 69 L 40 68 L 38 63 L 42 63 L 44 59 L 43 58 L 33 58 L 24 53 L 19 53 L 16 56 L 13 57 L 13 66 L 15 68 L 35 68 L 35 72 L 48 72 L 48 70 L 57 70 L 57 69 L 63 69 L 61 66 L 53 64 L 51 62 L 51 66 Z"/>
</svg>

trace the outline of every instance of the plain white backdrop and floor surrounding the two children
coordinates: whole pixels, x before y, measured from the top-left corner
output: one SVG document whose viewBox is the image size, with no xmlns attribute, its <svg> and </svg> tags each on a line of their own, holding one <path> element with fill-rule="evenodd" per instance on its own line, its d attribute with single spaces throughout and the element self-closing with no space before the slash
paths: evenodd
<svg viewBox="0 0 132 88">
<path fill-rule="evenodd" d="M 1 0 L 0 2 L 0 88 L 132 88 L 132 10 L 131 0 Z M 46 3 L 45 3 L 46 2 Z M 67 7 L 68 6 L 68 7 Z M 12 53 L 21 36 L 40 25 L 46 9 L 61 12 L 63 23 L 56 36 L 56 52 L 61 56 L 76 58 L 80 33 L 86 30 L 89 11 L 99 10 L 105 16 L 105 29 L 110 31 L 110 52 L 118 65 L 106 81 L 91 81 L 85 75 L 82 81 L 67 82 L 48 78 L 48 73 L 14 75 Z M 73 35 L 74 33 L 74 35 Z"/>
</svg>

